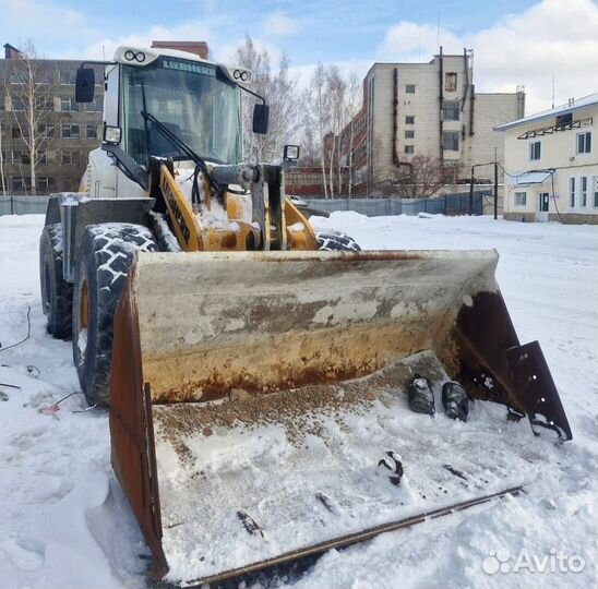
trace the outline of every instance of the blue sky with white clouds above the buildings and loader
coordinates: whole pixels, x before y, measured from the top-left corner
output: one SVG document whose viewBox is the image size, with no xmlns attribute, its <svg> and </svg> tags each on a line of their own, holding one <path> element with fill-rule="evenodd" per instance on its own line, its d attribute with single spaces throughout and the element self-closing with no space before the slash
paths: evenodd
<svg viewBox="0 0 598 589">
<path fill-rule="evenodd" d="M 439 26 L 440 23 L 440 26 Z M 478 92 L 524 85 L 527 113 L 598 92 L 593 0 L 0 0 L 0 40 L 31 38 L 48 58 L 109 58 L 121 44 L 206 40 L 229 62 L 250 35 L 303 81 L 318 62 L 363 75 L 375 61 L 429 61 L 474 49 Z"/>
</svg>

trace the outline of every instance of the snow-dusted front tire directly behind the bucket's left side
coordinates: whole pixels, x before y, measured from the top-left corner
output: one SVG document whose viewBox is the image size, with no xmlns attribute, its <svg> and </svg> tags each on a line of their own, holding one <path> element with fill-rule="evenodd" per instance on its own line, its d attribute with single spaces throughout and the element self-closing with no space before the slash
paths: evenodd
<svg viewBox="0 0 598 589">
<path fill-rule="evenodd" d="M 115 313 L 135 251 L 158 251 L 152 231 L 141 225 L 91 225 L 83 235 L 72 333 L 73 360 L 89 405 L 109 405 Z"/>
</svg>

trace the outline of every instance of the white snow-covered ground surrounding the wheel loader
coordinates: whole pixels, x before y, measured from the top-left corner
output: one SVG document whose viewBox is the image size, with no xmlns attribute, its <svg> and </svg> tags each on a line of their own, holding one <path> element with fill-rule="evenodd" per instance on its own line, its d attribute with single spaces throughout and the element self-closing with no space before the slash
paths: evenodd
<svg viewBox="0 0 598 589">
<path fill-rule="evenodd" d="M 524 495 L 331 551 L 270 585 L 597 587 L 598 228 L 352 213 L 313 223 L 363 249 L 495 248 L 519 338 L 540 340 L 574 440 L 529 434 L 543 464 Z M 147 549 L 111 471 L 107 413 L 77 412 L 81 395 L 51 410 L 79 384 L 71 344 L 45 332 L 41 224 L 0 217 L 0 588 L 141 588 Z M 27 335 L 29 308 L 31 337 L 9 349 Z"/>
</svg>

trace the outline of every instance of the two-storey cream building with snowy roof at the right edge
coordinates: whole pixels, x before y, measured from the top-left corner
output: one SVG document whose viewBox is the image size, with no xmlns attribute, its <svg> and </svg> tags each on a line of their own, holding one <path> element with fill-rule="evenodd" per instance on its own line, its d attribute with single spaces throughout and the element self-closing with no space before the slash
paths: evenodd
<svg viewBox="0 0 598 589">
<path fill-rule="evenodd" d="M 503 131 L 504 218 L 598 224 L 598 94 L 497 127 Z"/>
</svg>

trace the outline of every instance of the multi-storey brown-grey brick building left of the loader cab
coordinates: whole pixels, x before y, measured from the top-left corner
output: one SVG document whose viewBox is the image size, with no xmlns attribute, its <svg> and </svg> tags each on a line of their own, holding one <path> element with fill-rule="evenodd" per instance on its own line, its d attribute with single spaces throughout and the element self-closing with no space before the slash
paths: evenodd
<svg viewBox="0 0 598 589">
<path fill-rule="evenodd" d="M 81 60 L 28 60 L 17 48 L 4 45 L 4 59 L 0 59 L 0 194 L 32 193 L 32 157 L 37 194 L 77 190 L 87 154 L 100 143 L 104 103 L 101 65 L 96 67 L 95 100 L 75 103 L 80 65 Z"/>
</svg>

